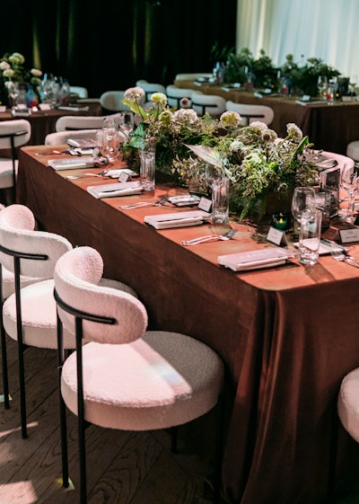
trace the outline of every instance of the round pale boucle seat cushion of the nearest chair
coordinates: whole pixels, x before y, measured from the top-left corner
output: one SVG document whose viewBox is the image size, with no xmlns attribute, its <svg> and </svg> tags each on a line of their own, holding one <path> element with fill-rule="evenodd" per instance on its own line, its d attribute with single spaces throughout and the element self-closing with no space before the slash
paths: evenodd
<svg viewBox="0 0 359 504">
<path fill-rule="evenodd" d="M 77 414 L 76 353 L 63 366 L 61 391 Z M 83 346 L 85 418 L 112 429 L 164 429 L 211 410 L 223 363 L 202 342 L 177 332 L 145 332 L 133 343 Z"/>
</svg>

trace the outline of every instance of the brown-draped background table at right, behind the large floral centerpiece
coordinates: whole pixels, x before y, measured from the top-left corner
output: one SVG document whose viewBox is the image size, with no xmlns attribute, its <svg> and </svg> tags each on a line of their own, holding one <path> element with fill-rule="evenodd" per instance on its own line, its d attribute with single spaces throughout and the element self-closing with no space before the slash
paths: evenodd
<svg viewBox="0 0 359 504">
<path fill-rule="evenodd" d="M 294 122 L 308 135 L 316 149 L 323 149 L 337 154 L 346 154 L 349 142 L 359 139 L 359 102 L 326 102 L 301 105 L 296 98 L 281 96 L 256 97 L 253 93 L 241 89 L 225 91 L 220 85 L 204 84 L 197 86 L 193 81 L 175 81 L 175 85 L 195 89 L 205 94 L 218 94 L 225 100 L 236 103 L 267 105 L 275 112 L 270 125 L 279 137 L 286 137 L 286 125 Z"/>
</svg>

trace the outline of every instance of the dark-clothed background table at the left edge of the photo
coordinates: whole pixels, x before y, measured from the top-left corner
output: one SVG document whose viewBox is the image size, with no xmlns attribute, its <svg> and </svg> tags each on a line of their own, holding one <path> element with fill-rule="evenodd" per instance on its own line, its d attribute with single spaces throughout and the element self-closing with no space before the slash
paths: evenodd
<svg viewBox="0 0 359 504">
<path fill-rule="evenodd" d="M 0 112 L 0 120 L 11 119 L 26 119 L 31 123 L 31 138 L 29 141 L 30 146 L 39 146 L 45 143 L 45 137 L 49 133 L 56 131 L 57 119 L 62 116 L 101 116 L 101 104 L 96 102 L 83 103 L 84 108 L 88 110 L 83 111 L 59 111 L 57 109 L 50 111 L 37 111 L 32 112 L 30 116 L 26 117 L 13 117 L 10 110 Z"/>
</svg>

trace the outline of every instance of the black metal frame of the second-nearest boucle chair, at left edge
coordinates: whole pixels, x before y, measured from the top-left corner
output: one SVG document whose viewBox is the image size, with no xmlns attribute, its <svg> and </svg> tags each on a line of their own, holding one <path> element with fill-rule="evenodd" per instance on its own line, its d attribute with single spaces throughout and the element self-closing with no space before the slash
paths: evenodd
<svg viewBox="0 0 359 504">
<path fill-rule="evenodd" d="M 19 388 L 20 388 L 20 411 L 21 411 L 21 421 L 22 421 L 22 438 L 28 437 L 27 425 L 26 425 L 26 394 L 25 394 L 25 373 L 24 373 L 24 358 L 23 352 L 26 345 L 23 343 L 22 337 L 22 296 L 21 296 L 21 260 L 30 259 L 34 261 L 47 261 L 48 255 L 39 253 L 27 253 L 18 252 L 8 249 L 0 244 L 0 252 L 4 252 L 7 255 L 13 257 L 13 274 L 14 274 L 14 284 L 15 284 L 15 300 L 16 300 L 16 331 L 17 331 L 17 349 L 18 349 L 18 365 L 19 365 Z M 3 387 L 4 387 L 4 407 L 5 409 L 10 408 L 9 402 L 9 382 L 7 373 L 7 356 L 6 356 L 6 335 L 4 331 L 4 316 L 3 316 L 3 266 L 0 267 L 0 305 L 1 305 L 1 320 L 0 320 L 0 332 L 1 332 L 1 354 L 2 354 L 2 365 L 3 365 Z"/>
</svg>

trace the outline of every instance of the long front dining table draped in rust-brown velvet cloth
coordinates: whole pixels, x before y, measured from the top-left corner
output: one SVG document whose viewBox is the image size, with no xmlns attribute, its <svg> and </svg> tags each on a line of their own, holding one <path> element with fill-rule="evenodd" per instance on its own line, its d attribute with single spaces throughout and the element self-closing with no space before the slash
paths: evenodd
<svg viewBox="0 0 359 504">
<path fill-rule="evenodd" d="M 144 217 L 181 212 L 122 210 L 183 189 L 158 183 L 152 193 L 95 199 L 106 179 L 58 172 L 44 146 L 22 147 L 17 201 L 40 229 L 97 249 L 104 274 L 135 288 L 149 327 L 206 342 L 226 367 L 223 492 L 233 504 L 328 504 L 357 489 L 359 447 L 337 420 L 342 378 L 359 366 L 359 269 L 320 256 L 276 268 L 235 272 L 219 255 L 274 247 L 255 225 L 231 218 L 230 241 L 184 246 L 182 240 L 228 225 L 155 230 Z M 49 156 L 51 157 L 51 156 Z M 359 258 L 359 244 L 351 245 Z M 208 442 L 206 429 L 202 432 Z M 333 502 L 336 500 L 334 499 Z"/>
</svg>

